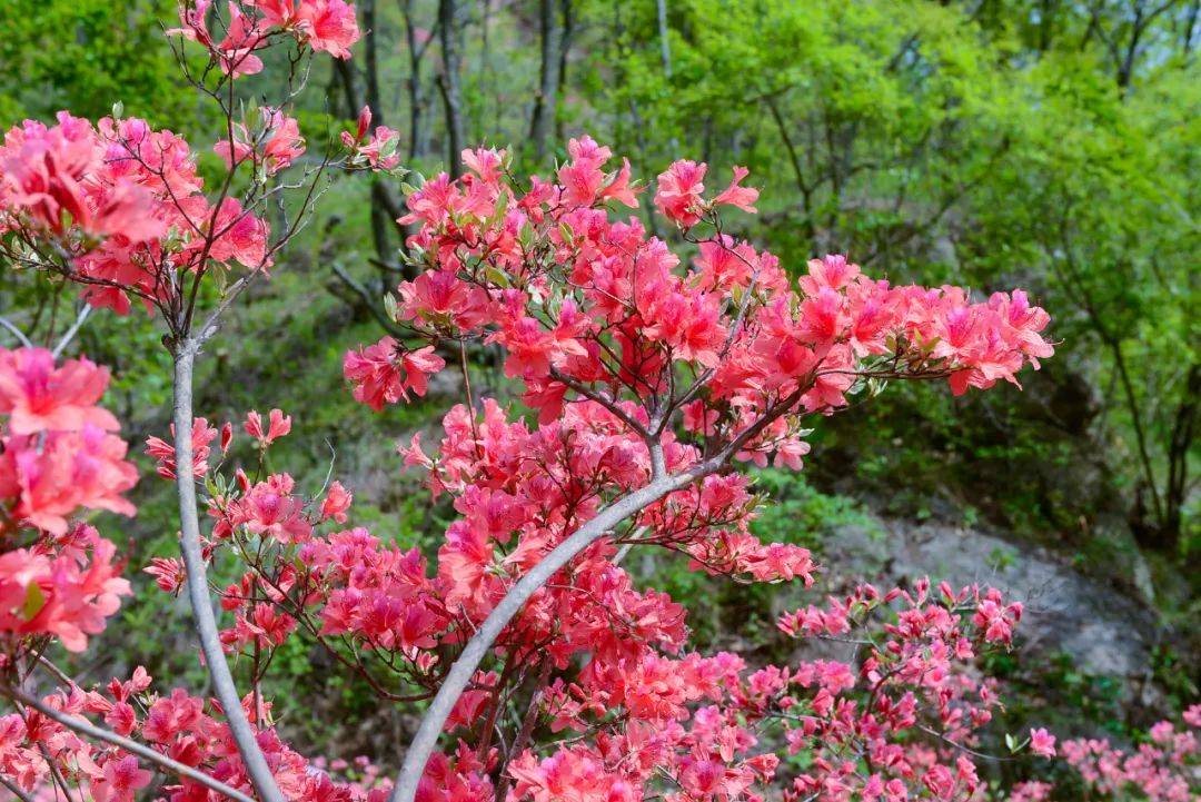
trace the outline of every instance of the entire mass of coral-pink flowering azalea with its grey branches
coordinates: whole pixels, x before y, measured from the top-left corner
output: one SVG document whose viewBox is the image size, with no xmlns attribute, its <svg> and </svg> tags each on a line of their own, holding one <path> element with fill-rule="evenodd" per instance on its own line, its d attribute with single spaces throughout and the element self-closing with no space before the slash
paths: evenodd
<svg viewBox="0 0 1201 802">
<path fill-rule="evenodd" d="M 174 424 L 145 449 L 178 490 L 180 557 L 143 569 L 162 592 L 189 595 L 215 698 L 155 692 L 141 669 L 84 689 L 47 653 L 85 648 L 130 593 L 113 544 L 74 519 L 132 514 L 124 492 L 135 475 L 98 406 L 107 372 L 58 357 L 70 337 L 53 352 L 0 352 L 5 788 L 94 802 L 986 794 L 976 759 L 1000 700 L 979 658 L 1009 648 L 1022 616 L 1000 591 L 861 585 L 778 621 L 782 636 L 837 657 L 749 665 L 689 650 L 680 600 L 639 587 L 622 561 L 657 547 L 730 581 L 812 585 L 806 549 L 752 534 L 766 499 L 736 466 L 799 469 L 812 425 L 890 381 L 945 381 L 956 394 L 1016 384 L 1053 352 L 1041 309 L 1021 291 L 973 299 L 894 286 L 841 256 L 796 279 L 727 232 L 723 214 L 752 213 L 758 199 L 742 168 L 711 193 L 705 164 L 668 167 L 651 205 L 675 231 L 669 241 L 622 211 L 645 187 L 588 137 L 570 142 L 552 178 L 527 182 L 504 151 L 465 151 L 468 173 L 413 188 L 399 221 L 413 231 L 414 276 L 388 299 L 400 334 L 342 365 L 375 411 L 424 396 L 449 364 L 461 372 L 464 399 L 436 449 L 419 436 L 400 445 L 399 461 L 459 515 L 431 559 L 355 526 L 341 481 L 303 487 L 268 469 L 292 415 L 250 411 L 217 425 L 192 408 L 197 355 L 309 220 L 323 174 L 399 169 L 396 134 L 372 131 L 369 109 L 337 138 L 340 155 L 304 163 L 286 100 L 305 72 L 287 77 L 283 102 L 256 92 L 246 116 L 225 100 L 263 70 L 264 48 L 288 48 L 293 67 L 313 52 L 347 58 L 354 8 L 197 0 L 180 5 L 180 20 L 169 35 L 208 56 L 203 73 L 186 74 L 225 114 L 214 146 L 223 179 L 205 185 L 186 142 L 119 110 L 26 121 L 0 148 L 0 241 L 13 263 L 76 283 L 90 306 L 127 313 L 137 300 L 162 318 Z M 301 174 L 268 181 L 286 170 Z M 297 193 L 299 210 L 273 232 L 264 211 L 282 192 Z M 502 355 L 527 413 L 473 390 L 480 348 Z M 243 437 L 257 462 L 234 459 Z M 219 616 L 210 586 L 221 588 Z M 398 744 L 395 782 L 370 761 L 304 758 L 275 730 L 263 681 L 292 639 L 324 650 L 381 705 L 424 706 L 412 743 Z M 1151 764 L 1183 760 L 1187 737 L 1153 734 L 1159 752 L 1123 764 L 1122 777 L 1141 782 Z M 1015 746 L 1056 753 L 1044 730 Z M 1077 766 L 1092 754 L 1116 761 L 1109 747 L 1060 749 Z"/>
</svg>

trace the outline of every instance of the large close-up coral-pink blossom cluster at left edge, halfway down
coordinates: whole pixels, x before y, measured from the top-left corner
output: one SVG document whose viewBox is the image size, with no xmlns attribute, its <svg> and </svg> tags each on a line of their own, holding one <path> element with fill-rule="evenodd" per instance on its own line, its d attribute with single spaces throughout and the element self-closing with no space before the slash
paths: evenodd
<svg viewBox="0 0 1201 802">
<path fill-rule="evenodd" d="M 113 543 L 70 522 L 83 509 L 135 513 L 124 493 L 137 473 L 97 406 L 107 385 L 85 358 L 0 348 L 0 672 L 46 636 L 83 651 L 130 593 Z"/>
</svg>

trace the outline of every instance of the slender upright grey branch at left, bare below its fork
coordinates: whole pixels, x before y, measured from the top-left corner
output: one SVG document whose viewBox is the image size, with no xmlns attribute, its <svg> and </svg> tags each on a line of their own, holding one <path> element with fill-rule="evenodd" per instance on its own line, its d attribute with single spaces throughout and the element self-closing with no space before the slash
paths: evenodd
<svg viewBox="0 0 1201 802">
<path fill-rule="evenodd" d="M 175 489 L 179 497 L 180 551 L 187 571 L 187 598 L 196 617 L 196 632 L 201 639 L 201 651 L 213 678 L 213 687 L 225 711 L 238 753 L 255 790 L 264 802 L 283 802 L 283 795 L 275 784 L 275 777 L 267 765 L 267 758 L 258 747 L 255 730 L 241 708 L 241 698 L 234 686 L 221 648 L 217 622 L 209 599 L 209 580 L 204 569 L 201 546 L 201 522 L 196 505 L 196 479 L 192 475 L 192 369 L 197 340 L 185 339 L 175 348 Z"/>
</svg>

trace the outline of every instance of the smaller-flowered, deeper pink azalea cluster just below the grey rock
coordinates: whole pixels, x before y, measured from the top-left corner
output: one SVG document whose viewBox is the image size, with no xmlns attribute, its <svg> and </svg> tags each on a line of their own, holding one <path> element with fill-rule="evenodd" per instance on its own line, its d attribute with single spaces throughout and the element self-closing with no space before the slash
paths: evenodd
<svg viewBox="0 0 1201 802">
<path fill-rule="evenodd" d="M 858 639 L 858 665 L 819 662 L 808 675 L 817 682 L 800 681 L 817 693 L 808 710 L 785 711 L 787 738 L 791 753 L 813 755 L 815 771 L 797 777 L 785 798 L 895 801 L 916 788 L 954 800 L 984 788 L 973 747 L 1000 700 L 994 681 L 964 669 L 982 651 L 1012 642 L 1022 605 L 1005 603 L 996 588 L 931 588 L 921 580 L 912 591 L 882 593 L 862 585 L 825 608 L 783 616 L 779 628 L 799 638 L 855 640 L 882 614 L 880 634 Z M 866 701 L 839 699 L 856 687 Z M 1040 738 L 1032 732 L 1032 750 L 1047 756 Z"/>
</svg>

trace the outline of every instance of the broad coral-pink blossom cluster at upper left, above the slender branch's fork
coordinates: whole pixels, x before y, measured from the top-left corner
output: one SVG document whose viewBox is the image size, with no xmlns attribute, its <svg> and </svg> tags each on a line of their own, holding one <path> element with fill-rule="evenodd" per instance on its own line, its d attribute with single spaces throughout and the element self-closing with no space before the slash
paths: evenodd
<svg viewBox="0 0 1201 802">
<path fill-rule="evenodd" d="M 291 136 L 276 121 L 268 148 Z M 295 152 L 294 143 L 274 149 L 268 163 Z M 247 158 L 238 145 L 234 158 Z M 24 246 L 16 256 L 62 264 L 92 306 L 125 315 L 131 297 L 169 306 L 172 275 L 268 261 L 267 223 L 238 198 L 210 204 L 187 142 L 136 118 L 26 120 L 5 136 L 0 179 L 0 228 Z"/>
</svg>

